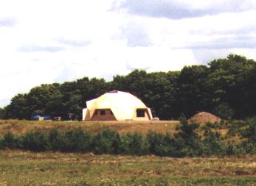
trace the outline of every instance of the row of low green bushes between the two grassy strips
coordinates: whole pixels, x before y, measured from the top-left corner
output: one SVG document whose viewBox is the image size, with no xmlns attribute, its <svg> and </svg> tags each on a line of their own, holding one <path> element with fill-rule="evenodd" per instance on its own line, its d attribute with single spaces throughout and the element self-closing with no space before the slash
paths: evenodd
<svg viewBox="0 0 256 186">
<path fill-rule="evenodd" d="M 241 143 L 224 143 L 218 132 L 205 130 L 204 137 L 196 132 L 198 124 L 188 124 L 181 119 L 175 135 L 148 132 L 120 135 L 105 129 L 96 135 L 82 129 L 50 132 L 28 132 L 15 136 L 8 132 L 0 139 L 0 149 L 25 149 L 30 151 L 93 152 L 94 154 L 156 154 L 167 157 L 224 156 L 256 153 L 256 129 L 250 125 Z"/>
</svg>

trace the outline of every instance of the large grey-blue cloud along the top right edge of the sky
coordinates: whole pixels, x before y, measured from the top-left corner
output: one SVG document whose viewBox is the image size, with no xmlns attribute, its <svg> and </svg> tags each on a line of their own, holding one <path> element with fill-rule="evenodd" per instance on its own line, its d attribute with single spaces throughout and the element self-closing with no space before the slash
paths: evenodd
<svg viewBox="0 0 256 186">
<path fill-rule="evenodd" d="M 256 3 L 253 0 L 116 0 L 112 5 L 112 10 L 128 12 L 134 15 L 172 19 L 255 9 Z"/>
</svg>

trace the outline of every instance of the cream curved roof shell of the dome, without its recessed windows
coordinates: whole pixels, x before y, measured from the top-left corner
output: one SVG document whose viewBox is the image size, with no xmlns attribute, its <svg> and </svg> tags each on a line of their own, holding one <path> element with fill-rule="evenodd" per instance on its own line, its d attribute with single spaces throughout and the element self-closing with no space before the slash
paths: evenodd
<svg viewBox="0 0 256 186">
<path fill-rule="evenodd" d="M 136 109 L 148 109 L 136 96 L 117 90 L 104 93 L 97 99 L 87 101 L 86 104 L 87 109 L 90 110 L 90 117 L 95 109 L 111 109 L 117 120 L 136 118 Z"/>
</svg>

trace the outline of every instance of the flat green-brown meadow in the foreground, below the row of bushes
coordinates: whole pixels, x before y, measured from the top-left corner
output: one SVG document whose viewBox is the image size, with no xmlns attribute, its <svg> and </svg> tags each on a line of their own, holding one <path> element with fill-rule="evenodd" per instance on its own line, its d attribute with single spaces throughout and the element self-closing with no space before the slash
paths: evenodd
<svg viewBox="0 0 256 186">
<path fill-rule="evenodd" d="M 179 159 L 5 150 L 0 185 L 256 185 L 256 156 Z"/>
</svg>

